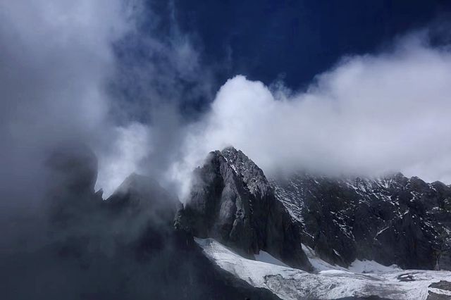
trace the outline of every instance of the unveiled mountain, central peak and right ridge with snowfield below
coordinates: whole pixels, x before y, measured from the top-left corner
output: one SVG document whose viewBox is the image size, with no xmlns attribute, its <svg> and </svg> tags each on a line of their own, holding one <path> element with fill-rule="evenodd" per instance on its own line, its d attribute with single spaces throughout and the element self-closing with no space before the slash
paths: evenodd
<svg viewBox="0 0 451 300">
<path fill-rule="evenodd" d="M 175 227 L 254 287 L 282 299 L 451 297 L 451 188 L 441 182 L 400 173 L 268 180 L 233 147 L 194 174 Z"/>
</svg>

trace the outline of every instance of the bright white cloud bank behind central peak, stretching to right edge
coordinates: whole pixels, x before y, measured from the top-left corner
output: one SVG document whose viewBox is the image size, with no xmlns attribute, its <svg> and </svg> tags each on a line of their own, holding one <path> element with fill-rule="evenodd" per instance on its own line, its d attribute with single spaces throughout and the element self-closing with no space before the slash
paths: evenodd
<svg viewBox="0 0 451 300">
<path fill-rule="evenodd" d="M 343 58 L 305 92 L 236 76 L 190 128 L 185 163 L 233 145 L 267 173 L 402 171 L 450 183 L 450 82 L 450 51 L 421 32 L 390 51 Z"/>
</svg>

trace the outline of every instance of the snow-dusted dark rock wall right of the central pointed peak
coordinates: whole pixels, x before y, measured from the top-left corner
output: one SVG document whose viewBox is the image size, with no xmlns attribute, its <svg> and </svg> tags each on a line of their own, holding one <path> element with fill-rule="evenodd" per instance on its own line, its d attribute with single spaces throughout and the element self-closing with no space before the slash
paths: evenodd
<svg viewBox="0 0 451 300">
<path fill-rule="evenodd" d="M 441 182 L 298 173 L 272 184 L 304 241 L 330 263 L 451 269 L 451 188 Z"/>
</svg>

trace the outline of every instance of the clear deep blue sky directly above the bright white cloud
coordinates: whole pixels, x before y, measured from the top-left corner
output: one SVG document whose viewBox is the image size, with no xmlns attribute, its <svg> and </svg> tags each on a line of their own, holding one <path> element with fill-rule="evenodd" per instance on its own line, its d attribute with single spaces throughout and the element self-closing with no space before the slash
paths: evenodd
<svg viewBox="0 0 451 300">
<path fill-rule="evenodd" d="M 449 8 L 431 0 L 175 1 L 181 29 L 197 36 L 207 63 L 230 55 L 219 77 L 241 73 L 269 84 L 283 76 L 294 89 L 341 56 L 375 51 Z"/>
</svg>

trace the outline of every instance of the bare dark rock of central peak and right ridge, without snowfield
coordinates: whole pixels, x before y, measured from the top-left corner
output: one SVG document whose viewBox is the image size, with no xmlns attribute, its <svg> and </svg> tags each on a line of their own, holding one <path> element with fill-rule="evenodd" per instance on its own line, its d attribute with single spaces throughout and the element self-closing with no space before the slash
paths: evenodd
<svg viewBox="0 0 451 300">
<path fill-rule="evenodd" d="M 232 147 L 211 152 L 194 175 L 175 226 L 247 257 L 264 250 L 308 270 L 303 243 L 344 267 L 367 259 L 451 269 L 451 187 L 441 182 L 400 173 L 378 179 L 297 173 L 268 181 Z"/>
</svg>

